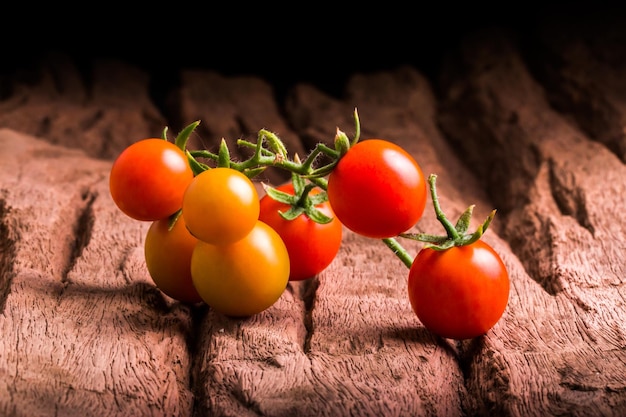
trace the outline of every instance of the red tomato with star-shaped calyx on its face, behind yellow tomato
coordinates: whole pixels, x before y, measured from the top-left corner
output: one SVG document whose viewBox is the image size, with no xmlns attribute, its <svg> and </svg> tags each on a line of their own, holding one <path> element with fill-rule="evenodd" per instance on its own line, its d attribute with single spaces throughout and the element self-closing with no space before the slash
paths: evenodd
<svg viewBox="0 0 626 417">
<path fill-rule="evenodd" d="M 343 227 L 325 192 L 298 176 L 276 188 L 266 187 L 259 220 L 270 225 L 289 252 L 290 281 L 312 278 L 335 259 Z"/>
</svg>

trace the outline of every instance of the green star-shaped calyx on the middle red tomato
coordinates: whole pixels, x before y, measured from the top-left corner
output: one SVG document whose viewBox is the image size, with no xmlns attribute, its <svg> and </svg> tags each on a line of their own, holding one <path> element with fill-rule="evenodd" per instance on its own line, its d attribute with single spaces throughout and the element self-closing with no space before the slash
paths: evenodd
<svg viewBox="0 0 626 417">
<path fill-rule="evenodd" d="M 332 217 L 328 217 L 316 207 L 328 201 L 326 191 L 312 194 L 311 191 L 317 185 L 307 182 L 299 175 L 292 175 L 291 180 L 294 189 L 293 194 L 280 191 L 265 184 L 263 185 L 265 192 L 270 198 L 289 206 L 287 211 L 279 212 L 280 216 L 285 220 L 294 220 L 296 217 L 304 214 L 316 223 L 326 224 L 332 221 Z"/>
</svg>

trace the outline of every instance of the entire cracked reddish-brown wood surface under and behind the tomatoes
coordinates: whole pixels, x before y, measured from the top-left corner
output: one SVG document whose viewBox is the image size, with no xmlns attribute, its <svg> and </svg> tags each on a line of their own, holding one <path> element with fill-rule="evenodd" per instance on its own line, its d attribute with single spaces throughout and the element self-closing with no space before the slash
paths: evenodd
<svg viewBox="0 0 626 417">
<path fill-rule="evenodd" d="M 59 57 L 38 83 L 15 83 L 0 100 L 0 414 L 623 415 L 626 96 L 614 49 L 598 59 L 576 35 L 555 46 L 486 33 L 453 51 L 440 82 L 401 67 L 355 74 L 341 98 L 297 85 L 284 103 L 263 80 L 193 70 L 159 110 L 141 72 L 94 66 L 101 93 L 86 94 Z M 119 82 L 106 84 L 110 71 Z M 601 105 L 583 111 L 581 95 Z M 326 271 L 249 319 L 154 287 L 148 225 L 108 193 L 116 152 L 166 120 L 198 119 L 198 145 L 265 128 L 303 152 L 337 127 L 350 136 L 355 107 L 363 138 L 392 140 L 438 174 L 449 217 L 476 204 L 478 223 L 498 209 L 484 239 L 511 296 L 487 335 L 428 333 L 406 267 L 349 231 Z M 430 206 L 415 226 L 440 228 Z"/>
</svg>

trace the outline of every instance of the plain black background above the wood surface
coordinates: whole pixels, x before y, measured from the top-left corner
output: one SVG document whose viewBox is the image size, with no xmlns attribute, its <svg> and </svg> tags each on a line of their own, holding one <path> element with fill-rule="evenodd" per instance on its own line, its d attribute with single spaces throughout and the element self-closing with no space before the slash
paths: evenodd
<svg viewBox="0 0 626 417">
<path fill-rule="evenodd" d="M 132 7 L 131 7 L 132 6 Z M 545 21 L 598 19 L 619 5 L 591 1 L 414 2 L 281 7 L 173 2 L 85 6 L 17 3 L 0 25 L 0 74 L 36 66 L 50 51 L 81 66 L 119 58 L 175 82 L 181 68 L 257 75 L 280 93 L 311 82 L 340 94 L 355 72 L 413 65 L 436 76 L 445 53 L 468 33 L 505 26 L 522 36 Z"/>
</svg>

